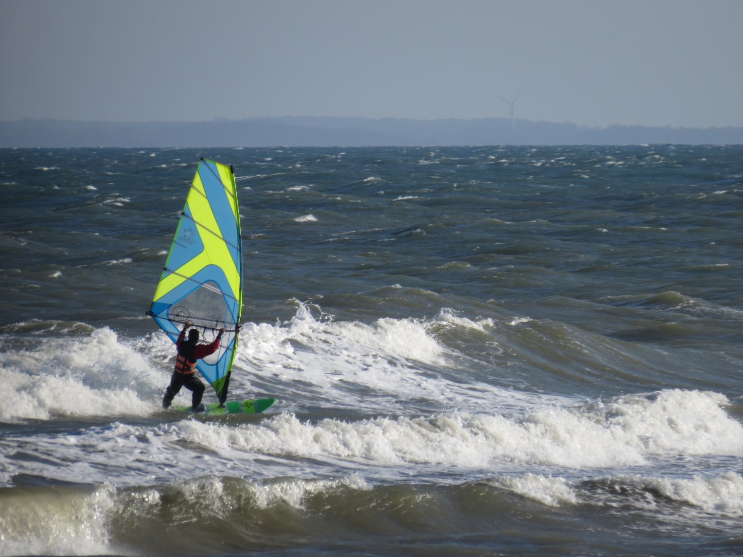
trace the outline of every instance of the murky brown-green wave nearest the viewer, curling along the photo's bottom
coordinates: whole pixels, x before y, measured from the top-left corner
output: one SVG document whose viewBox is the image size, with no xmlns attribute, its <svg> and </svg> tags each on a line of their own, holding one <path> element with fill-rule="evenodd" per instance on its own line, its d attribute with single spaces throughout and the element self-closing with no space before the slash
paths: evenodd
<svg viewBox="0 0 743 557">
<path fill-rule="evenodd" d="M 664 524 L 683 523 L 695 532 L 698 509 L 714 518 L 717 531 L 735 535 L 742 483 L 732 472 L 575 484 L 530 473 L 453 485 L 373 485 L 358 475 L 262 481 L 209 475 L 156 486 L 19 487 L 0 489 L 0 556 L 193 554 L 215 545 L 223 552 L 281 552 L 296 544 L 348 553 L 344 540 L 359 531 L 365 554 L 388 546 L 390 538 L 396 550 L 407 540 L 404 547 L 419 553 L 425 545 L 416 546 L 410 535 L 417 544 L 439 548 L 442 539 L 461 539 L 463 532 L 502 538 L 504 528 L 523 527 L 525 514 L 551 524 L 552 509 L 578 505 L 605 519 L 620 516 L 623 527 L 652 520 L 659 531 Z M 458 553 L 459 546 L 452 547 Z"/>
</svg>

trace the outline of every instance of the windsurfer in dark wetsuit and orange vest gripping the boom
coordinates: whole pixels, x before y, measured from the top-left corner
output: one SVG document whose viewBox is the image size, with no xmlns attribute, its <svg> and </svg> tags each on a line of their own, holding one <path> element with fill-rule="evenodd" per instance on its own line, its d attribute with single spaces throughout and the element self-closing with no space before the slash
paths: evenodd
<svg viewBox="0 0 743 557">
<path fill-rule="evenodd" d="M 170 385 L 165 390 L 163 397 L 163 408 L 170 408 L 173 398 L 181 387 L 187 388 L 192 392 L 191 408 L 194 412 L 203 412 L 204 405 L 201 404 L 201 397 L 204 394 L 204 383 L 196 377 L 196 360 L 214 354 L 224 334 L 224 329 L 220 329 L 214 342 L 208 345 L 198 344 L 198 329 L 192 329 L 188 333 L 186 341 L 186 330 L 191 327 L 192 323 L 186 321 L 178 340 L 175 341 L 175 348 L 178 348 L 178 356 L 175 360 L 175 369 L 170 378 Z"/>
</svg>

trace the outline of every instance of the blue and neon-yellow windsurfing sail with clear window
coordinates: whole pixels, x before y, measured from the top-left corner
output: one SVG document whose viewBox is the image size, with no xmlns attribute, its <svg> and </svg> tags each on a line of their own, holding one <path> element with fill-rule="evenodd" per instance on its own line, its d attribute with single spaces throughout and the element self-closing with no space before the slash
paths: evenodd
<svg viewBox="0 0 743 557">
<path fill-rule="evenodd" d="M 147 312 L 173 342 L 186 321 L 218 351 L 196 368 L 227 399 L 242 312 L 240 211 L 232 166 L 202 158 L 186 198 L 155 299 Z"/>
</svg>

